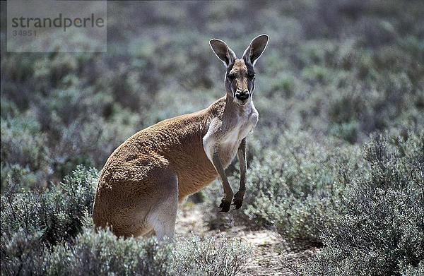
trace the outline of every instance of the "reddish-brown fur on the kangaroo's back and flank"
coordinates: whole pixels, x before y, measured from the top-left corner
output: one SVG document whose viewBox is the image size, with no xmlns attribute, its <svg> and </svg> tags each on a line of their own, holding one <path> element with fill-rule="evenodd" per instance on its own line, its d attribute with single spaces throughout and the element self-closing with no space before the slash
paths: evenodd
<svg viewBox="0 0 424 276">
<path fill-rule="evenodd" d="M 134 210 L 138 196 L 154 196 L 159 191 L 155 179 L 167 170 L 177 174 L 180 202 L 216 179 L 218 173 L 206 157 L 202 138 L 211 119 L 223 116 L 225 102 L 222 97 L 207 109 L 160 121 L 114 150 L 99 179 L 93 207 L 96 226 L 109 224 L 114 232 L 120 232 L 117 227 L 123 215 L 129 222 L 139 220 L 131 215 L 138 213 Z"/>
</svg>

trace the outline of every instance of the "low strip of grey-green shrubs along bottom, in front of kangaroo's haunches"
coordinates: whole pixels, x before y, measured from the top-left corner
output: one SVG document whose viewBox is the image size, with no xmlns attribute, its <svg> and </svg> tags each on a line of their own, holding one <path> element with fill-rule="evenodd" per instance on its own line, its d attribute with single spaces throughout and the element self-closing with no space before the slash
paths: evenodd
<svg viewBox="0 0 424 276">
<path fill-rule="evenodd" d="M 225 236 L 158 243 L 85 229 L 52 248 L 40 246 L 39 239 L 23 232 L 8 239 L 1 251 L 2 274 L 236 275 L 251 256 L 249 246 Z"/>
</svg>

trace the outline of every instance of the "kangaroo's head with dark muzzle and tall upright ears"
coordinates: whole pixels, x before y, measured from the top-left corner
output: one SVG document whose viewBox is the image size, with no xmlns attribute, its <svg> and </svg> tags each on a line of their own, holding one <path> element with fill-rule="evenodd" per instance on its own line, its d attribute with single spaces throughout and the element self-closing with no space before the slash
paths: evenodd
<svg viewBox="0 0 424 276">
<path fill-rule="evenodd" d="M 245 105 L 252 100 L 254 90 L 254 65 L 264 52 L 268 44 L 268 35 L 255 37 L 243 53 L 241 59 L 237 59 L 234 51 L 222 40 L 209 41 L 213 52 L 218 59 L 223 61 L 227 71 L 225 72 L 225 90 L 232 99 L 240 105 Z"/>
</svg>

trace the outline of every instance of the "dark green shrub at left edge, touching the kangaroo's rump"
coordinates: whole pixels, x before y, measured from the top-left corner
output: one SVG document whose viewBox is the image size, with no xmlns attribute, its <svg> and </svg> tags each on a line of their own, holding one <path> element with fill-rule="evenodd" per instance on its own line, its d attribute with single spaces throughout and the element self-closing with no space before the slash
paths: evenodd
<svg viewBox="0 0 424 276">
<path fill-rule="evenodd" d="M 44 192 L 17 193 L 10 186 L 1 196 L 1 233 L 4 238 L 18 231 L 39 233 L 45 246 L 71 239 L 81 231 L 84 213 L 91 212 L 97 179 L 97 170 L 79 166 Z"/>
</svg>

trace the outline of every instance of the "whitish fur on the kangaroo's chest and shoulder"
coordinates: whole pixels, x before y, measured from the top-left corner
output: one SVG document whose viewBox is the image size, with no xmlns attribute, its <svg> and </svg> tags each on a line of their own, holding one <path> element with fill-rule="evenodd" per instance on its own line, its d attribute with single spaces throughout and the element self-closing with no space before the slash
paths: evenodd
<svg viewBox="0 0 424 276">
<path fill-rule="evenodd" d="M 223 167 L 228 167 L 234 159 L 240 143 L 256 126 L 259 119 L 253 102 L 249 102 L 243 112 L 235 113 L 230 119 L 214 118 L 203 138 L 204 150 L 208 159 L 218 152 Z"/>
</svg>

